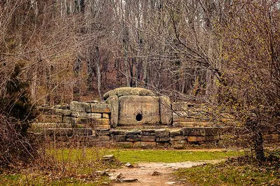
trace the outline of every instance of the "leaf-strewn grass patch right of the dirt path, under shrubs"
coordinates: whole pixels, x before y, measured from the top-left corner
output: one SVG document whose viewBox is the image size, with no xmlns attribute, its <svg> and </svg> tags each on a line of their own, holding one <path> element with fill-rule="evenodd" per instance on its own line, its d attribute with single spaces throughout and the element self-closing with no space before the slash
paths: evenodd
<svg viewBox="0 0 280 186">
<path fill-rule="evenodd" d="M 195 185 L 280 185 L 280 164 L 228 159 L 219 164 L 205 164 L 174 173 Z"/>
</svg>

